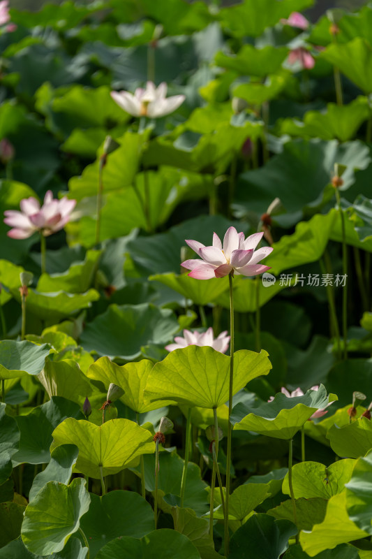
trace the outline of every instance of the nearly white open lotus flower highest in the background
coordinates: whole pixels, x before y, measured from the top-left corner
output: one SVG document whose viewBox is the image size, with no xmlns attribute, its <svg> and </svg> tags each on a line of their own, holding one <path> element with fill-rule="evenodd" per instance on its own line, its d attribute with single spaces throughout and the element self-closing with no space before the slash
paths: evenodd
<svg viewBox="0 0 372 559">
<path fill-rule="evenodd" d="M 134 95 L 125 91 L 111 92 L 115 103 L 130 115 L 149 118 L 169 115 L 170 112 L 179 108 L 185 100 L 184 95 L 174 95 L 168 98 L 166 95 L 167 84 L 165 82 L 158 87 L 155 87 L 153 82 L 147 82 L 146 89 L 139 87 L 135 90 Z"/>
</svg>

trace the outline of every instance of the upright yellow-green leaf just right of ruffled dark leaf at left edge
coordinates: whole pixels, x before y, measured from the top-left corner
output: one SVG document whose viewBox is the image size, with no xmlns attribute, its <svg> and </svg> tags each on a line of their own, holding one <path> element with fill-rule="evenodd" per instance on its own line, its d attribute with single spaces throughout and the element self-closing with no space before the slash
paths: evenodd
<svg viewBox="0 0 372 559">
<path fill-rule="evenodd" d="M 72 359 L 64 359 L 63 361 L 47 359 L 38 379 L 50 398 L 52 396 L 62 396 L 81 405 L 93 390 L 79 365 Z"/>
</svg>

